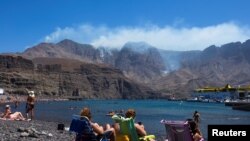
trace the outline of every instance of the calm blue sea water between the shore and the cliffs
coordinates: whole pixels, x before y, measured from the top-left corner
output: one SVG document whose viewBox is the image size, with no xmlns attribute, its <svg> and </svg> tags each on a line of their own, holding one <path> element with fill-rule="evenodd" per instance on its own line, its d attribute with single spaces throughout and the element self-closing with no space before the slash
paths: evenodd
<svg viewBox="0 0 250 141">
<path fill-rule="evenodd" d="M 38 102 L 35 118 L 56 122 L 70 122 L 73 114 L 79 114 L 82 107 L 90 107 L 93 120 L 100 123 L 113 123 L 106 113 L 112 110 L 133 108 L 137 112 L 136 121 L 141 121 L 149 134 L 165 136 L 165 127 L 160 123 L 166 120 L 186 120 L 192 118 L 195 110 L 201 114 L 201 131 L 207 138 L 209 124 L 250 124 L 250 112 L 232 110 L 222 103 L 199 103 L 166 100 L 84 100 Z M 24 111 L 24 104 L 18 109 Z M 56 128 L 56 127 L 55 127 Z"/>
</svg>

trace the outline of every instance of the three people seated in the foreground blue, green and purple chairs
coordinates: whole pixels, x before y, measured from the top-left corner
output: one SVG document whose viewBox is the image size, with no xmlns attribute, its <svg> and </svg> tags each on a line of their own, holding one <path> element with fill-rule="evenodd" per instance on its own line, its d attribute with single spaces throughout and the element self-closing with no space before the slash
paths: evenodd
<svg viewBox="0 0 250 141">
<path fill-rule="evenodd" d="M 101 126 L 98 123 L 93 122 L 91 111 L 87 107 L 84 107 L 81 110 L 80 116 L 87 117 L 87 120 L 89 121 L 90 126 L 95 134 L 94 138 L 97 138 L 98 141 L 101 139 L 103 135 L 107 135 L 109 137 L 109 141 L 131 141 L 130 136 L 126 136 L 126 135 L 124 136 L 121 134 L 121 127 L 119 123 L 115 122 L 113 125 L 106 124 L 104 126 Z M 124 116 L 125 116 L 124 118 L 130 118 L 130 119 L 132 118 L 134 120 L 136 117 L 136 112 L 134 109 L 128 109 L 125 112 Z M 201 131 L 199 130 L 200 115 L 197 111 L 194 113 L 193 118 L 194 120 L 190 122 L 191 134 L 193 137 L 192 140 L 201 141 L 203 140 L 203 137 L 202 137 Z M 134 123 L 134 128 L 136 130 L 137 136 L 139 138 L 145 137 L 148 135 L 145 130 L 144 125 L 141 122 L 137 122 L 137 123 L 133 122 L 133 123 Z M 86 135 L 77 134 L 76 141 L 86 140 L 86 138 L 83 139 L 84 137 L 86 137 Z M 147 141 L 154 141 L 154 138 L 148 138 Z"/>
</svg>

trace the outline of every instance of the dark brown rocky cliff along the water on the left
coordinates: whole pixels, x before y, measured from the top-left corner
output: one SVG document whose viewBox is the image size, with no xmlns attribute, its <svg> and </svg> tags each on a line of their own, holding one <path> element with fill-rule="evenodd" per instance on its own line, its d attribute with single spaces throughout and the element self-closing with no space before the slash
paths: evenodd
<svg viewBox="0 0 250 141">
<path fill-rule="evenodd" d="M 0 56 L 0 87 L 6 93 L 25 95 L 26 88 L 40 96 L 134 99 L 160 94 L 127 79 L 120 70 L 105 65 L 60 58 Z"/>
</svg>

